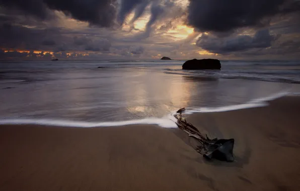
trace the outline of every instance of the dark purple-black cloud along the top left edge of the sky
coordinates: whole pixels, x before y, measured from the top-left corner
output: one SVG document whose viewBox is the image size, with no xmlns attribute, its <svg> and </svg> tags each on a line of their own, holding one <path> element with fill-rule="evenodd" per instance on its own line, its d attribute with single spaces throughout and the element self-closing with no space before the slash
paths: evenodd
<svg viewBox="0 0 300 191">
<path fill-rule="evenodd" d="M 17 11 L 20 15 L 42 20 L 54 15 L 51 10 L 62 11 L 74 19 L 100 27 L 112 26 L 116 16 L 116 0 L 0 0 L 0 6 L 7 14 Z"/>
</svg>

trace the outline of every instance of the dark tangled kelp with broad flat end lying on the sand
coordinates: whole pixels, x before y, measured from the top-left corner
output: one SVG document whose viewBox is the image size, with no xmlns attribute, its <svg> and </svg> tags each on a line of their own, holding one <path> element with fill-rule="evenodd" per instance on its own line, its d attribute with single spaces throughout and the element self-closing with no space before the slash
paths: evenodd
<svg viewBox="0 0 300 191">
<path fill-rule="evenodd" d="M 209 160 L 216 158 L 218 160 L 234 161 L 234 139 L 209 139 L 207 135 L 204 137 L 196 127 L 194 127 L 191 123 L 187 123 L 182 116 L 182 113 L 184 112 L 185 108 L 182 108 L 176 112 L 174 115 L 174 117 L 177 119 L 176 124 L 181 130 L 187 133 L 188 136 L 199 141 L 197 152 Z"/>
</svg>

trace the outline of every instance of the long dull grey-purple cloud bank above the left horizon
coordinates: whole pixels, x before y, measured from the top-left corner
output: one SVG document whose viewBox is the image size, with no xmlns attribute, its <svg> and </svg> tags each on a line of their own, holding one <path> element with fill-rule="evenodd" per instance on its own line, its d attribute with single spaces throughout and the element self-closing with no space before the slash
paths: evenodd
<svg viewBox="0 0 300 191">
<path fill-rule="evenodd" d="M 59 28 L 36 29 L 18 25 L 0 25 L 0 48 L 19 50 L 64 51 L 109 51 L 108 39 L 77 35 L 71 37 Z"/>
</svg>

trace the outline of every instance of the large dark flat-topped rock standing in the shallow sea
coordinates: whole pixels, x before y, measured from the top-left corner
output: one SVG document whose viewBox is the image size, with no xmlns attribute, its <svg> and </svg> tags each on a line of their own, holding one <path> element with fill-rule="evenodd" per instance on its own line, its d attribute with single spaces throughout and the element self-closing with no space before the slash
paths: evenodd
<svg viewBox="0 0 300 191">
<path fill-rule="evenodd" d="M 193 59 L 188 60 L 182 65 L 182 69 L 187 70 L 205 70 L 205 69 L 221 69 L 221 63 L 217 59 Z"/>
</svg>

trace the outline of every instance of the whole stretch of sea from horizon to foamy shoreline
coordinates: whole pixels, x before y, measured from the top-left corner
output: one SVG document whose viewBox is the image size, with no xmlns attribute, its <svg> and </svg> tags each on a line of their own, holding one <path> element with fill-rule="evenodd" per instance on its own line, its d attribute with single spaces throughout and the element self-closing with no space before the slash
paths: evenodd
<svg viewBox="0 0 300 191">
<path fill-rule="evenodd" d="M 221 60 L 221 70 L 182 70 L 184 62 L 0 61 L 0 124 L 176 127 L 181 108 L 262 107 L 300 92 L 300 61 Z"/>
</svg>

